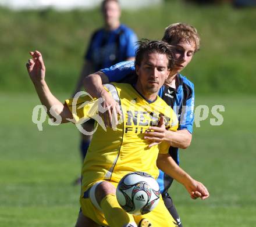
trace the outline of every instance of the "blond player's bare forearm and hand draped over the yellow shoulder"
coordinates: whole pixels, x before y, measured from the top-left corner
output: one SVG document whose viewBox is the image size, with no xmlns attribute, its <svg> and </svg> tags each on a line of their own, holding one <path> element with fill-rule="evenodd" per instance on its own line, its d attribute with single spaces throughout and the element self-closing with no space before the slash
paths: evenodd
<svg viewBox="0 0 256 227">
<path fill-rule="evenodd" d="M 108 109 L 102 116 L 106 127 L 111 126 L 110 122 L 112 122 L 112 116 L 116 118 L 115 122 L 117 122 L 118 114 L 122 114 L 119 104 L 103 87 L 103 84 L 107 84 L 108 82 L 108 77 L 101 71 L 88 75 L 88 77 L 84 78 L 84 88 L 86 91 L 94 98 L 102 98 L 104 100 L 104 102 L 102 102 L 102 107 Z"/>
</svg>

